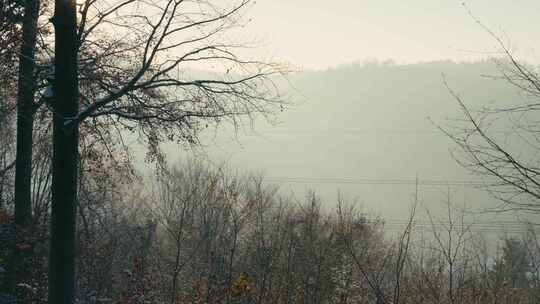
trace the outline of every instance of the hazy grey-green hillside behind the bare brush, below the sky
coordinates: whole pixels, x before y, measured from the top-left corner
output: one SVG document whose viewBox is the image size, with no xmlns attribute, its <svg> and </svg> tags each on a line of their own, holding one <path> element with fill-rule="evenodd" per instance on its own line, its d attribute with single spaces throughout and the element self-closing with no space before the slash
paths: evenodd
<svg viewBox="0 0 540 304">
<path fill-rule="evenodd" d="M 422 209 L 436 217 L 445 215 L 450 193 L 455 207 L 470 211 L 468 221 L 518 220 L 481 212 L 498 202 L 482 189 L 483 177 L 456 162 L 455 144 L 439 129 L 462 118 L 445 81 L 472 109 L 523 100 L 514 87 L 489 77 L 498 72 L 491 61 L 440 61 L 296 73 L 286 86 L 292 105 L 277 121 L 257 120 L 236 132 L 220 126 L 203 136 L 195 153 L 216 166 L 261 173 L 283 194 L 301 198 L 315 190 L 328 209 L 340 193 L 390 228 L 409 216 L 416 177 Z M 174 144 L 165 151 L 172 163 L 192 157 Z M 424 210 L 418 219 L 426 220 Z M 494 233 L 522 231 L 503 224 Z"/>
</svg>

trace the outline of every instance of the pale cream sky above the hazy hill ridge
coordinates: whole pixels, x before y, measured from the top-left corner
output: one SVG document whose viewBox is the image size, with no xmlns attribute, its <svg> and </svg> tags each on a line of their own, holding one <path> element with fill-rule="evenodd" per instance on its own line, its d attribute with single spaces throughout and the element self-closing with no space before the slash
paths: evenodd
<svg viewBox="0 0 540 304">
<path fill-rule="evenodd" d="M 540 1 L 471 0 L 466 7 L 502 33 L 521 56 L 538 61 Z M 493 40 L 458 0 L 260 0 L 247 27 L 266 54 L 305 68 L 392 59 L 398 63 L 471 61 Z"/>
</svg>

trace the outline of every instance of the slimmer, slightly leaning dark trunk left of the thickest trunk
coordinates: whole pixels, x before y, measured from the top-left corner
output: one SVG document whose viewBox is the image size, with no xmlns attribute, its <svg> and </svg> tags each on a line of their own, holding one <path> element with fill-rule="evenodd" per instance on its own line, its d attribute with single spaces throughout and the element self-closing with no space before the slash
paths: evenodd
<svg viewBox="0 0 540 304">
<path fill-rule="evenodd" d="M 14 291 L 18 282 L 26 281 L 24 267 L 27 252 L 19 252 L 16 244 L 24 242 L 32 217 L 32 133 L 34 128 L 34 95 L 36 91 L 34 69 L 37 19 L 40 0 L 27 0 L 24 6 L 22 44 L 19 55 L 17 87 L 17 155 L 15 161 L 15 224 L 16 241 L 8 261 L 7 289 Z M 1 198 L 0 198 L 1 199 Z"/>
</svg>

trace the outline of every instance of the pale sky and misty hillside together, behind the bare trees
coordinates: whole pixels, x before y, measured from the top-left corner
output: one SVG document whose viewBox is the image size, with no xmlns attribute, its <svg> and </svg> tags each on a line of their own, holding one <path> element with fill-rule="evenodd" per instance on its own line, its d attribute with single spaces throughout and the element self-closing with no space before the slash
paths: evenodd
<svg viewBox="0 0 540 304">
<path fill-rule="evenodd" d="M 389 225 L 408 217 L 418 178 L 422 206 L 437 217 L 450 194 L 470 211 L 469 221 L 499 222 L 495 233 L 512 233 L 504 221 L 534 219 L 484 213 L 498 202 L 481 176 L 456 162 L 456 146 L 439 128 L 462 119 L 450 90 L 472 110 L 523 102 L 497 79 L 492 59 L 500 49 L 483 26 L 538 63 L 538 42 L 529 37 L 539 10 L 536 1 L 259 1 L 239 33 L 258 46 L 246 52 L 297 71 L 278 81 L 291 105 L 273 123 L 221 125 L 195 153 L 260 172 L 284 194 L 316 189 L 328 208 L 339 193 Z M 508 135 L 504 123 L 498 129 Z M 165 151 L 173 163 L 193 154 L 173 144 Z M 425 212 L 418 217 L 426 220 Z"/>
</svg>

